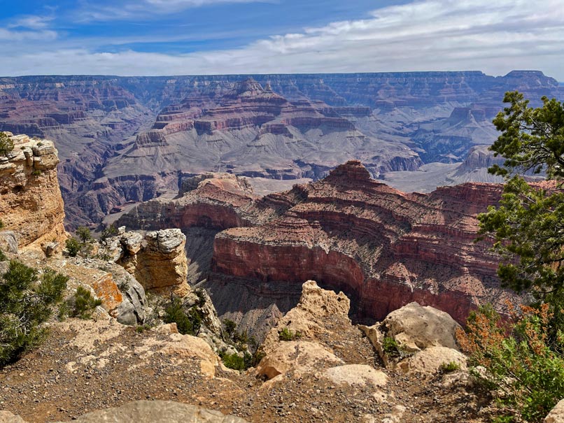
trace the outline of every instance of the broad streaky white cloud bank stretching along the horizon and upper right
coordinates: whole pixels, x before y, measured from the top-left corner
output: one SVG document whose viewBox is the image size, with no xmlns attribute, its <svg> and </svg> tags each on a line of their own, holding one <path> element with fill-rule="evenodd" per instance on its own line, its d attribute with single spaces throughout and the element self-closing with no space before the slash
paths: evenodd
<svg viewBox="0 0 564 423">
<path fill-rule="evenodd" d="M 13 52 L 11 70 L 0 67 L 0 73 L 178 75 L 479 69 L 504 74 L 512 69 L 540 69 L 564 80 L 563 39 L 563 0 L 425 0 L 381 8 L 365 20 L 333 22 L 299 34 L 272 36 L 235 50 L 188 55 L 100 54 L 62 48 L 28 55 Z"/>
</svg>

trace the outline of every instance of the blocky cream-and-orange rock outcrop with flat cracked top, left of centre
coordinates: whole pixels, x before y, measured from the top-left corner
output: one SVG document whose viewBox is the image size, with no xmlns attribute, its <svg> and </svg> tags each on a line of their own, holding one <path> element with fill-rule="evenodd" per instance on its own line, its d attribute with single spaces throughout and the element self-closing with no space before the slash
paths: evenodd
<svg viewBox="0 0 564 423">
<path fill-rule="evenodd" d="M 145 236 L 126 232 L 104 241 L 106 254 L 141 282 L 143 288 L 159 294 L 185 296 L 190 292 L 188 264 L 180 229 L 150 231 Z"/>
</svg>

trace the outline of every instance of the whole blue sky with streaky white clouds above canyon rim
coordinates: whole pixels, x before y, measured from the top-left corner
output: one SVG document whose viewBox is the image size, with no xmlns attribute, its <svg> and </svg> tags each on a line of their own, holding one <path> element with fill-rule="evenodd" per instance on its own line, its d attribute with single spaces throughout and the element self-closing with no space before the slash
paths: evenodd
<svg viewBox="0 0 564 423">
<path fill-rule="evenodd" d="M 535 69 L 564 0 L 0 0 L 0 76 Z"/>
</svg>

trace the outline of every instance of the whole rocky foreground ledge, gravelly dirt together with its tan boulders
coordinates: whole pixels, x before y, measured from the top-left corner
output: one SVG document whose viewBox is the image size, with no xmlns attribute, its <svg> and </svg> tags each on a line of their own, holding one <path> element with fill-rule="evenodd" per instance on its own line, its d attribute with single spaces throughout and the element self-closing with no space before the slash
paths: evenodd
<svg viewBox="0 0 564 423">
<path fill-rule="evenodd" d="M 107 317 L 52 324 L 45 345 L 0 371 L 0 408 L 19 416 L 3 413 L 0 422 L 491 421 L 446 313 L 413 303 L 357 327 L 348 307 L 344 294 L 306 282 L 298 306 L 262 344 L 265 357 L 243 373 L 174 324 L 145 331 Z M 408 353 L 388 357 L 381 336 Z M 447 361 L 458 370 L 442 371 Z M 562 422 L 558 413 L 547 422 Z"/>
</svg>

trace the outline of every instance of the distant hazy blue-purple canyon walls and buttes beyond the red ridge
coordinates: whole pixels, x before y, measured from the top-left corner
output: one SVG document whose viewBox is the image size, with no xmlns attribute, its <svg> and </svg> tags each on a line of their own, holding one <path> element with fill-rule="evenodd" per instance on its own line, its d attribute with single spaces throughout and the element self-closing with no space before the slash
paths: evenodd
<svg viewBox="0 0 564 423">
<path fill-rule="evenodd" d="M 270 192 L 350 159 L 405 192 L 492 182 L 475 148 L 489 154 L 514 89 L 563 96 L 540 71 L 25 76 L 0 78 L 0 130 L 55 142 L 74 229 L 205 171 L 280 181 Z"/>
</svg>

